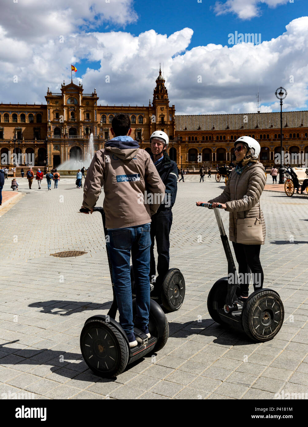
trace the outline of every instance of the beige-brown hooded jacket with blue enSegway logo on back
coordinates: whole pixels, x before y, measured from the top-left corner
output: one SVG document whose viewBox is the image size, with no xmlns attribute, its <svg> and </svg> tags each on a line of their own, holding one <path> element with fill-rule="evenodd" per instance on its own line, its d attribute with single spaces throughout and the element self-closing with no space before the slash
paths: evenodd
<svg viewBox="0 0 308 427">
<path fill-rule="evenodd" d="M 123 144 L 114 142 L 118 146 Z M 137 142 L 136 146 L 139 147 Z M 135 147 L 108 146 L 95 153 L 84 181 L 85 208 L 96 205 L 102 187 L 106 228 L 151 222 L 151 215 L 157 211 L 165 195 L 165 186 L 150 155 Z"/>
</svg>

